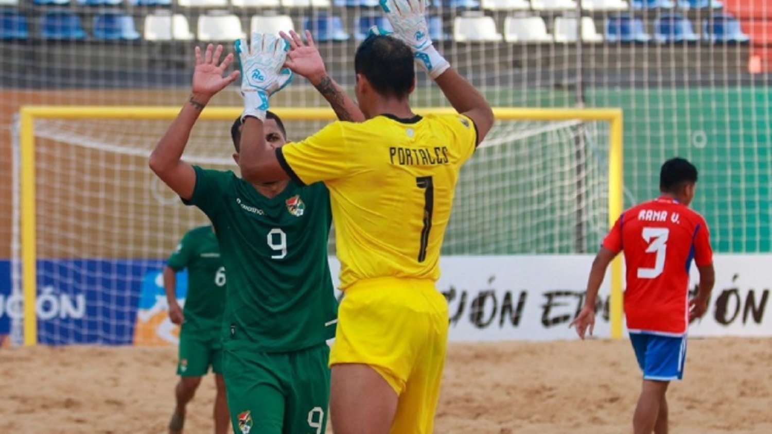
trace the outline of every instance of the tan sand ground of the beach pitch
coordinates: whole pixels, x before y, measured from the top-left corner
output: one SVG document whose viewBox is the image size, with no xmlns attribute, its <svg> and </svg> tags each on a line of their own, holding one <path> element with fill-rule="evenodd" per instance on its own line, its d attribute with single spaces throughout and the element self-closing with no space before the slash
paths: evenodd
<svg viewBox="0 0 772 434">
<path fill-rule="evenodd" d="M 3 348 L 0 432 L 161 433 L 174 348 Z M 452 344 L 435 432 L 631 432 L 640 377 L 627 341 Z M 214 381 L 186 432 L 211 432 Z M 689 341 L 669 392 L 675 434 L 772 433 L 772 339 Z"/>
</svg>

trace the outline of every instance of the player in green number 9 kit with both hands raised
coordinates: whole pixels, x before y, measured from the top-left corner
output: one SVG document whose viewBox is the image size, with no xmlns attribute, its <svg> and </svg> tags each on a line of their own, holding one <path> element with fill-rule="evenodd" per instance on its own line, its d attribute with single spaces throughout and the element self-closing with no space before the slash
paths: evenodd
<svg viewBox="0 0 772 434">
<path fill-rule="evenodd" d="M 337 313 L 327 263 L 329 193 L 322 184 L 250 184 L 230 171 L 181 161 L 205 104 L 238 76 L 222 76 L 232 55 L 219 63 L 221 55 L 222 46 L 208 46 L 204 56 L 196 48 L 191 98 L 157 144 L 150 165 L 186 203 L 208 215 L 217 234 L 228 270 L 223 368 L 235 432 L 324 432 L 330 381 L 326 341 L 334 336 Z M 327 76 L 313 45 L 296 50 L 286 64 L 317 86 L 339 117 L 364 118 Z M 270 112 L 266 116 L 265 143 L 282 146 L 281 120 Z M 252 140 L 240 136 L 239 119 L 232 128 L 237 163 L 239 142 Z"/>
</svg>

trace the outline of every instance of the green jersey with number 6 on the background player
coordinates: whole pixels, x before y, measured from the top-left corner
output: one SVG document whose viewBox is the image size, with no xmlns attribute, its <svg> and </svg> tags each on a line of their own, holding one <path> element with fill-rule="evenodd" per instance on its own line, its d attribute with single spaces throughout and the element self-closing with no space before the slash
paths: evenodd
<svg viewBox="0 0 772 434">
<path fill-rule="evenodd" d="M 174 271 L 188 269 L 183 329 L 220 330 L 225 310 L 225 267 L 212 226 L 201 226 L 185 233 L 166 265 Z"/>
</svg>

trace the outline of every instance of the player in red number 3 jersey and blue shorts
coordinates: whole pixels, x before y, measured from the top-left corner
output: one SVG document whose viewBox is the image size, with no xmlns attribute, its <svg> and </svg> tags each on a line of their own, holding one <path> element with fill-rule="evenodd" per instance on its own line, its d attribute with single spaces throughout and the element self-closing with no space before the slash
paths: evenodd
<svg viewBox="0 0 772 434">
<path fill-rule="evenodd" d="M 665 392 L 680 380 L 689 322 L 705 313 L 715 281 L 713 251 L 702 215 L 689 209 L 697 169 L 683 158 L 662 164 L 659 198 L 628 209 L 619 217 L 595 256 L 584 308 L 571 323 L 584 334 L 595 323 L 595 301 L 606 268 L 625 254 L 625 317 L 643 386 L 633 415 L 635 434 L 668 432 Z M 689 266 L 699 270 L 699 291 L 689 300 Z"/>
</svg>

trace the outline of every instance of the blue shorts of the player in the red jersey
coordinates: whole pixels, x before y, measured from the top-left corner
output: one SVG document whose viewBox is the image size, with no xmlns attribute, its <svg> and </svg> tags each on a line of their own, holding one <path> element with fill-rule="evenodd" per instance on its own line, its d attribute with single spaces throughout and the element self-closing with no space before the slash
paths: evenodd
<svg viewBox="0 0 772 434">
<path fill-rule="evenodd" d="M 672 337 L 659 334 L 631 333 L 630 341 L 635 350 L 643 379 L 672 381 L 683 378 L 683 362 L 686 360 L 686 336 Z"/>
</svg>

